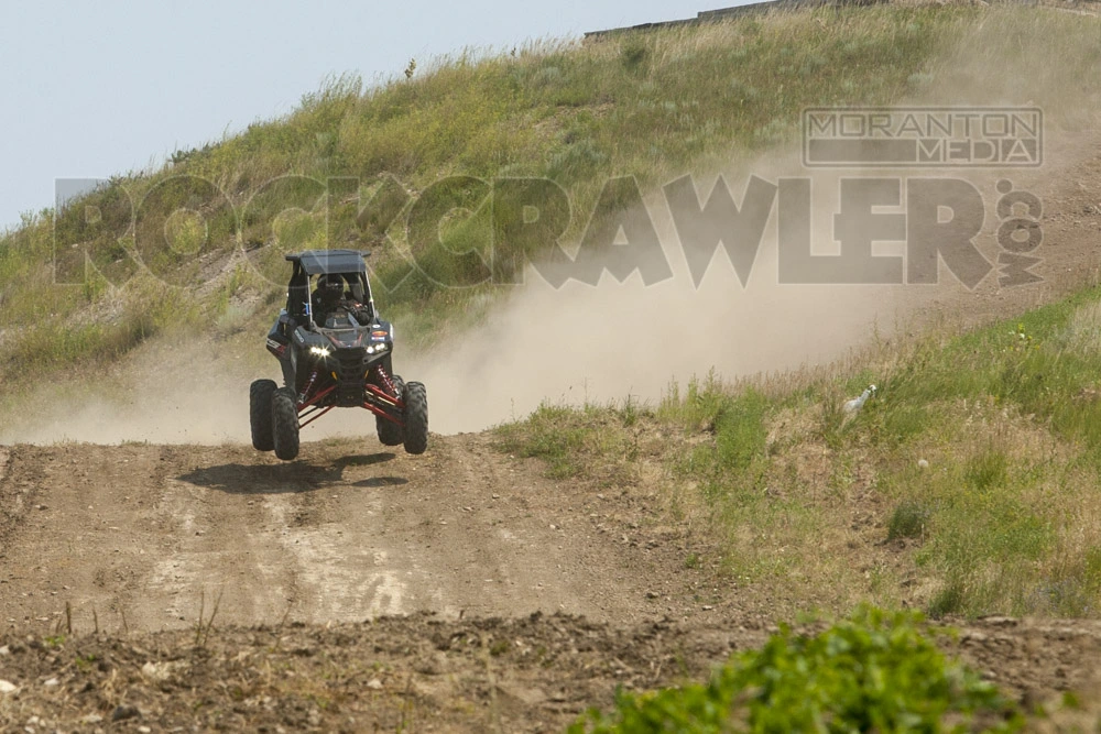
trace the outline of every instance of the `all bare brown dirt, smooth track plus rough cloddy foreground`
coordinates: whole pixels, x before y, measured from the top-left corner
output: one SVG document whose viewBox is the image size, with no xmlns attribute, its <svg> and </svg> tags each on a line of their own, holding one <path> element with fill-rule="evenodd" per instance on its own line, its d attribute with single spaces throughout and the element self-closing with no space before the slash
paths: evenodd
<svg viewBox="0 0 1101 734">
<path fill-rule="evenodd" d="M 767 589 L 686 569 L 643 490 L 490 440 L 4 450 L 0 723 L 562 731 L 773 628 Z M 1093 622 L 990 620 L 959 651 L 1028 701 L 1101 690 Z"/>
</svg>

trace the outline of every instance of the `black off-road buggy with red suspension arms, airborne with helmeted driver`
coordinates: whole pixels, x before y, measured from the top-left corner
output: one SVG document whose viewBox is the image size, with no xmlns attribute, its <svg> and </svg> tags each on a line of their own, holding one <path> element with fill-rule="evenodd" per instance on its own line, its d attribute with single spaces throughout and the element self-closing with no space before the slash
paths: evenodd
<svg viewBox="0 0 1101 734">
<path fill-rule="evenodd" d="M 367 408 L 379 440 L 410 453 L 428 447 L 428 399 L 419 382 L 393 372 L 394 327 L 379 318 L 364 259 L 369 252 L 314 250 L 293 264 L 286 308 L 268 333 L 283 386 L 257 380 L 249 390 L 252 446 L 290 461 L 298 429 L 333 408 Z M 317 277 L 313 287 L 312 281 Z M 339 306 L 320 308 L 320 288 L 337 288 Z M 314 294 L 313 296 L 310 294 Z"/>
</svg>

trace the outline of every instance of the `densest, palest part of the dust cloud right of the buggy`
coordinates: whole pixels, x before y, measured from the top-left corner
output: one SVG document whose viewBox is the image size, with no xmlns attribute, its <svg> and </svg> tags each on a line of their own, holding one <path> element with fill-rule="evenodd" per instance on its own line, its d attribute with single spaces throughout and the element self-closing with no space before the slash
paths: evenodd
<svg viewBox="0 0 1101 734">
<path fill-rule="evenodd" d="M 743 183 L 731 180 L 738 199 Z M 778 284 L 775 239 L 745 287 L 719 249 L 697 288 L 667 218 L 655 223 L 672 278 L 604 273 L 596 286 L 555 289 L 528 272 L 483 327 L 414 360 L 405 376 L 428 385 L 434 429 L 479 430 L 544 401 L 653 404 L 712 369 L 734 379 L 835 360 L 905 317 L 898 286 Z"/>
</svg>

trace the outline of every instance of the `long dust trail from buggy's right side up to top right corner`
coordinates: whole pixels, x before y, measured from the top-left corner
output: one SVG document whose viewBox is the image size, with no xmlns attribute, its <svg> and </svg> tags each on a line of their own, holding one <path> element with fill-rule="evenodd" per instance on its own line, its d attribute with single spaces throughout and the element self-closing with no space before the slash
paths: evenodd
<svg viewBox="0 0 1101 734">
<path fill-rule="evenodd" d="M 1054 10 L 1040 20 L 991 12 L 955 47 L 930 62 L 929 74 L 915 80 L 918 86 L 901 105 L 1040 108 L 1044 166 L 1014 169 L 1011 178 L 1016 188 L 1042 198 L 1058 194 L 1066 185 L 1066 172 L 1095 154 L 1099 144 L 1099 136 L 1090 131 L 1101 124 L 1101 85 L 1091 68 L 1095 62 L 1090 59 L 1097 58 L 1101 46 L 1088 29 L 1069 25 L 1079 23 L 1097 26 L 1098 20 Z M 1068 64 L 1037 63 L 1053 43 L 1064 47 L 1060 55 L 1070 59 Z M 701 198 L 710 193 L 715 173 L 696 177 Z M 731 164 L 721 173 L 740 202 L 751 174 L 775 183 L 781 176 L 809 172 L 797 154 L 774 151 Z M 975 244 L 995 263 L 995 184 L 1005 172 L 925 168 L 916 173 L 966 178 L 980 189 L 986 221 Z M 915 171 L 814 172 L 813 254 L 838 252 L 832 213 L 841 174 L 909 176 Z M 647 287 L 637 273 L 623 283 L 606 273 L 598 286 L 570 282 L 554 289 L 530 271 L 526 284 L 484 327 L 414 360 L 406 370 L 407 377 L 428 385 L 435 430 L 478 430 L 522 418 L 544 401 L 600 403 L 630 395 L 653 403 L 671 382 L 683 385 L 712 369 L 729 380 L 829 363 L 869 344 L 876 333 L 891 337 L 937 320 L 968 321 L 980 311 L 990 318 L 999 308 L 1032 307 L 1049 297 L 1045 284 L 1020 286 L 1006 295 L 1000 292 L 996 272 L 971 291 L 944 263 L 937 285 L 782 285 L 775 209 L 746 286 L 720 249 L 696 288 L 664 200 L 648 200 L 647 210 L 674 277 Z M 903 249 L 876 242 L 873 254 L 903 254 Z M 1046 276 L 1047 266 L 1044 262 L 1036 271 Z"/>
</svg>

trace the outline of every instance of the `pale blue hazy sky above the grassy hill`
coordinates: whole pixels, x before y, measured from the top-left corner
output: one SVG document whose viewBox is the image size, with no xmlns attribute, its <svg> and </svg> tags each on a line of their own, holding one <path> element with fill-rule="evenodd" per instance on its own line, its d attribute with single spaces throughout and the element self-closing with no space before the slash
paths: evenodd
<svg viewBox="0 0 1101 734">
<path fill-rule="evenodd" d="M 371 83 L 464 47 L 690 18 L 743 0 L 0 7 L 0 230 L 55 178 L 107 178 L 288 112 L 331 74 Z"/>
</svg>

